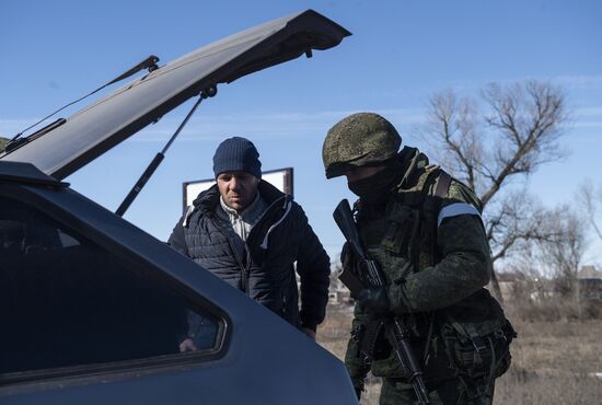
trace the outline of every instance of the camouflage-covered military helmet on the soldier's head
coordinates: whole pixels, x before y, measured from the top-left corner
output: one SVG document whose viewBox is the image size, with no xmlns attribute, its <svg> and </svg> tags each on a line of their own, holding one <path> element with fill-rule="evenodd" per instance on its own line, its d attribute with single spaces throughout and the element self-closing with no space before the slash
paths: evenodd
<svg viewBox="0 0 602 405">
<path fill-rule="evenodd" d="M 322 147 L 326 178 L 352 167 L 379 165 L 397 154 L 402 137 L 393 125 L 374 113 L 357 113 L 328 130 Z"/>
</svg>

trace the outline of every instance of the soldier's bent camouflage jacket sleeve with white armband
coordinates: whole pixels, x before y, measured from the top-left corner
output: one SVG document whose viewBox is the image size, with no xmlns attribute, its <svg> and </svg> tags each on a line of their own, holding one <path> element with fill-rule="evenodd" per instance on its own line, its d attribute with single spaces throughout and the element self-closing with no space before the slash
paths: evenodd
<svg viewBox="0 0 602 405">
<path fill-rule="evenodd" d="M 452 182 L 437 228 L 441 261 L 389 287 L 395 313 L 449 306 L 489 282 L 491 258 L 481 219 L 481 202 L 464 185 Z"/>
</svg>

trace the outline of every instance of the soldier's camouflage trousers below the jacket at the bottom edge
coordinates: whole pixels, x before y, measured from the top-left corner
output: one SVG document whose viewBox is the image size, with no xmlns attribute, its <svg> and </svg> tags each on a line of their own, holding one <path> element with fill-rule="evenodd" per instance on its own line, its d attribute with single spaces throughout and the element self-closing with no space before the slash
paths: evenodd
<svg viewBox="0 0 602 405">
<path fill-rule="evenodd" d="M 494 401 L 495 382 L 467 386 L 462 379 L 438 384 L 429 392 L 432 405 L 490 405 Z M 412 385 L 393 379 L 383 379 L 380 405 L 419 405 Z"/>
</svg>

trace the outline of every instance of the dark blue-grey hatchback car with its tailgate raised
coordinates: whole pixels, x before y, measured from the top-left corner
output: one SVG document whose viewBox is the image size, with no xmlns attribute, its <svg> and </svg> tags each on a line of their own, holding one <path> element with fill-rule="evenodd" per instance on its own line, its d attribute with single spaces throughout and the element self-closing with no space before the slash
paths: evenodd
<svg viewBox="0 0 602 405">
<path fill-rule="evenodd" d="M 183 102 L 348 35 L 306 10 L 161 67 L 150 57 L 141 78 L 5 146 L 2 404 L 357 404 L 335 356 L 63 182 Z M 181 352 L 195 314 L 207 344 Z"/>
</svg>

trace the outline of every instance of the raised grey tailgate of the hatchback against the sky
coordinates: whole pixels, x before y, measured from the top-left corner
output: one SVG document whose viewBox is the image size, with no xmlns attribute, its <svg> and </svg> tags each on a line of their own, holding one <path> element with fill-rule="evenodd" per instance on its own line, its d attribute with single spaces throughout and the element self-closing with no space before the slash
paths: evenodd
<svg viewBox="0 0 602 405">
<path fill-rule="evenodd" d="M 28 162 L 62 180 L 202 90 L 312 49 L 332 48 L 348 35 L 347 30 L 313 10 L 274 20 L 129 82 L 44 136 L 0 154 L 0 159 Z"/>
</svg>

